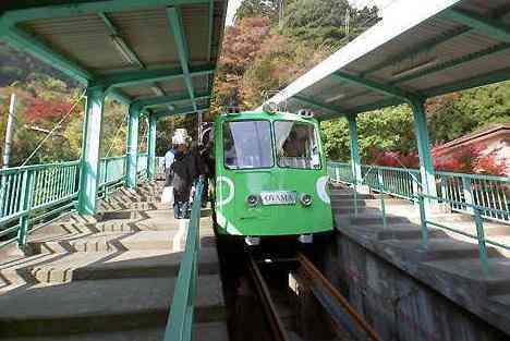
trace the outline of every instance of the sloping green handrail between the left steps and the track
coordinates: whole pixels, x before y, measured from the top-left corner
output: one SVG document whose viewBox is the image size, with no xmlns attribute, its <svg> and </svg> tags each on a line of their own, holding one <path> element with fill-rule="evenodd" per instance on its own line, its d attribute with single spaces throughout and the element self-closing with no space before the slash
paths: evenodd
<svg viewBox="0 0 510 341">
<path fill-rule="evenodd" d="M 194 302 L 198 285 L 201 200 L 203 188 L 204 184 L 199 181 L 196 186 L 191 219 L 187 224 L 186 247 L 179 268 L 179 277 L 165 331 L 165 341 L 192 340 Z"/>
</svg>

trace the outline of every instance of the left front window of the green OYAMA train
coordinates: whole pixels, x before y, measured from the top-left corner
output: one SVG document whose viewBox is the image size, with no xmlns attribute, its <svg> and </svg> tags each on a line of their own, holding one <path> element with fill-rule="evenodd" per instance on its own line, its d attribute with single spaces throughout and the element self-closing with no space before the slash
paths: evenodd
<svg viewBox="0 0 510 341">
<path fill-rule="evenodd" d="M 223 124 L 224 167 L 228 169 L 271 168 L 269 121 L 233 121 Z"/>
</svg>

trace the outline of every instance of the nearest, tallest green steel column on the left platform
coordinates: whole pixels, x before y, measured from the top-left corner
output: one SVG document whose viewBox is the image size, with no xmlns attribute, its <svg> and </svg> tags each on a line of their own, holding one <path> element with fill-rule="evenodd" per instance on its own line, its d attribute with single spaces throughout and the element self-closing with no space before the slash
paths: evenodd
<svg viewBox="0 0 510 341">
<path fill-rule="evenodd" d="M 82 215 L 94 215 L 96 212 L 104 103 L 104 88 L 93 87 L 87 89 L 80 165 L 78 211 Z"/>
</svg>

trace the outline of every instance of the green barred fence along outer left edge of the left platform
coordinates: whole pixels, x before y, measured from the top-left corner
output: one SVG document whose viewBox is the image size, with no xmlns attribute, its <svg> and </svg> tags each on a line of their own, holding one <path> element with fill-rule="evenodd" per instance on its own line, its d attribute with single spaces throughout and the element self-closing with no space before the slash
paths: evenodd
<svg viewBox="0 0 510 341">
<path fill-rule="evenodd" d="M 146 160 L 146 154 L 139 158 Z M 125 157 L 102 158 L 99 167 L 100 192 L 124 183 Z M 80 161 L 1 169 L 0 246 L 14 240 L 23 246 L 29 226 L 73 210 L 78 179 Z"/>
</svg>

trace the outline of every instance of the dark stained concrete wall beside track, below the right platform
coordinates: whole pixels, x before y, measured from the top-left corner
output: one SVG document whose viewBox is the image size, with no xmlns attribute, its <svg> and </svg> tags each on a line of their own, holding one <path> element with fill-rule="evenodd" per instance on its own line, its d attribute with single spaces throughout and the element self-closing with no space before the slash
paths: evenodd
<svg viewBox="0 0 510 341">
<path fill-rule="evenodd" d="M 496 341 L 508 336 L 338 233 L 323 267 L 352 305 L 391 341 Z"/>
</svg>

